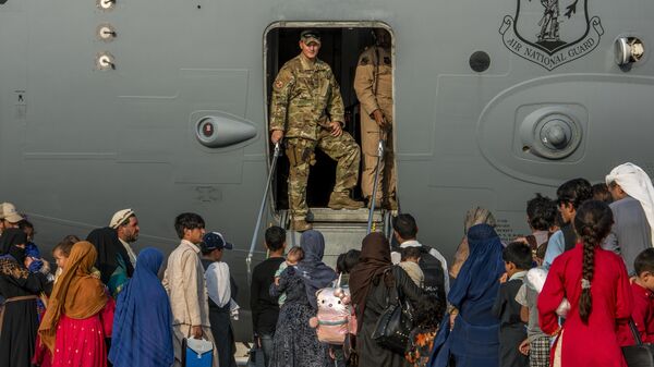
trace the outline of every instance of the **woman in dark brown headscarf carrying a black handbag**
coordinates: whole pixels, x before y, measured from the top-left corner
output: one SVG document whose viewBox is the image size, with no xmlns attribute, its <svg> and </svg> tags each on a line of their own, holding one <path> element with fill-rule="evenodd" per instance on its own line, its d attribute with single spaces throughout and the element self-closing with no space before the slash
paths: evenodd
<svg viewBox="0 0 654 367">
<path fill-rule="evenodd" d="M 385 350 L 371 338 L 379 316 L 389 306 L 390 286 L 396 286 L 398 293 L 412 304 L 416 304 L 422 294 L 402 268 L 392 266 L 388 240 L 382 233 L 373 232 L 363 238 L 360 261 L 350 272 L 350 292 L 359 330 L 356 352 L 360 366 L 410 366 L 403 354 Z"/>
</svg>

